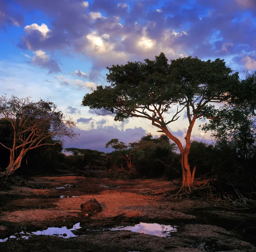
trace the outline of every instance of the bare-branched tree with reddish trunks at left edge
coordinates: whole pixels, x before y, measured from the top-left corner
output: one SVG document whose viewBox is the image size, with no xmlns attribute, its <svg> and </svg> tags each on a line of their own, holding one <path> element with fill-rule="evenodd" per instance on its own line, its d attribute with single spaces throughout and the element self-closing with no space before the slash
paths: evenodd
<svg viewBox="0 0 256 252">
<path fill-rule="evenodd" d="M 9 150 L 9 164 L 0 171 L 0 178 L 14 173 L 26 153 L 44 145 L 61 144 L 62 137 L 74 137 L 75 123 L 49 101 L 34 102 L 30 97 L 0 97 L 0 118 L 11 132 L 0 145 Z M 49 140 L 49 141 L 47 141 Z M 53 142 L 52 142 L 53 140 Z"/>
</svg>

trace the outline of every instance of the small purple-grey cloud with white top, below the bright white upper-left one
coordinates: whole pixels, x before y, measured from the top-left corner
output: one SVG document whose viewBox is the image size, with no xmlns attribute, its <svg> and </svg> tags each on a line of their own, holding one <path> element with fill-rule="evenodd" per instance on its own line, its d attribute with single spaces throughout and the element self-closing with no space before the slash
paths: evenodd
<svg viewBox="0 0 256 252">
<path fill-rule="evenodd" d="M 36 66 L 49 69 L 49 74 L 61 72 L 58 63 L 52 59 L 46 52 L 37 50 L 34 52 L 32 63 Z"/>
</svg>

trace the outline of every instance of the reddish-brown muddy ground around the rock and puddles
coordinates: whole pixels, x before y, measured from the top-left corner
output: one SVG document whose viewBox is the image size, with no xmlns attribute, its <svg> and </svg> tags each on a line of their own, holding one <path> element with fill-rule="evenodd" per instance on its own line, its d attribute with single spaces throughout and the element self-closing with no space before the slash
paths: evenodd
<svg viewBox="0 0 256 252">
<path fill-rule="evenodd" d="M 179 181 L 58 176 L 25 182 L 0 191 L 0 239 L 8 238 L 0 242 L 1 252 L 256 252 L 255 212 L 231 211 L 199 198 L 163 197 Z M 86 218 L 80 204 L 90 198 L 101 203 L 102 211 Z M 140 222 L 172 225 L 177 232 L 159 237 L 110 230 Z M 81 227 L 76 237 L 31 233 L 75 223 Z M 17 238 L 22 231 L 29 239 Z"/>
</svg>

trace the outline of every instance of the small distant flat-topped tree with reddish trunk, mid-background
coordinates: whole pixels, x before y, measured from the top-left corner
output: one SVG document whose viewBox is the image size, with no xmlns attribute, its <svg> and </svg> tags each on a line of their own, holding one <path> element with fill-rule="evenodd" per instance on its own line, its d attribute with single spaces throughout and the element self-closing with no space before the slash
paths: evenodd
<svg viewBox="0 0 256 252">
<path fill-rule="evenodd" d="M 135 143 L 129 143 L 126 145 L 124 142 L 119 142 L 117 138 L 112 138 L 108 143 L 106 143 L 106 148 L 112 147 L 115 149 L 114 152 L 112 152 L 112 156 L 117 156 L 123 160 L 125 160 L 125 163 L 128 166 L 128 169 L 130 171 L 133 171 L 132 166 L 132 148 L 134 147 Z"/>
</svg>

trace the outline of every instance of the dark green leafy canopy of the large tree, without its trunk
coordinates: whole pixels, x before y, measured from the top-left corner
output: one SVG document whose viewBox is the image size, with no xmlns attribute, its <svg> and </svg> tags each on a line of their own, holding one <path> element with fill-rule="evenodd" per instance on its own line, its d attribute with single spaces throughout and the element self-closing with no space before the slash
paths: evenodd
<svg viewBox="0 0 256 252">
<path fill-rule="evenodd" d="M 115 120 L 128 117 L 152 120 L 155 117 L 148 115 L 152 114 L 149 106 L 161 105 L 160 111 L 167 112 L 171 106 L 187 105 L 188 101 L 189 106 L 199 105 L 198 115 L 214 116 L 216 109 L 207 103 L 229 100 L 232 90 L 239 86 L 238 73 L 231 74 L 224 60 L 185 57 L 171 60 L 169 64 L 163 53 L 155 58 L 146 59 L 145 63 L 128 62 L 108 67 L 107 80 L 111 86 L 99 86 L 93 93 L 86 94 L 82 105 L 114 111 Z"/>
</svg>

